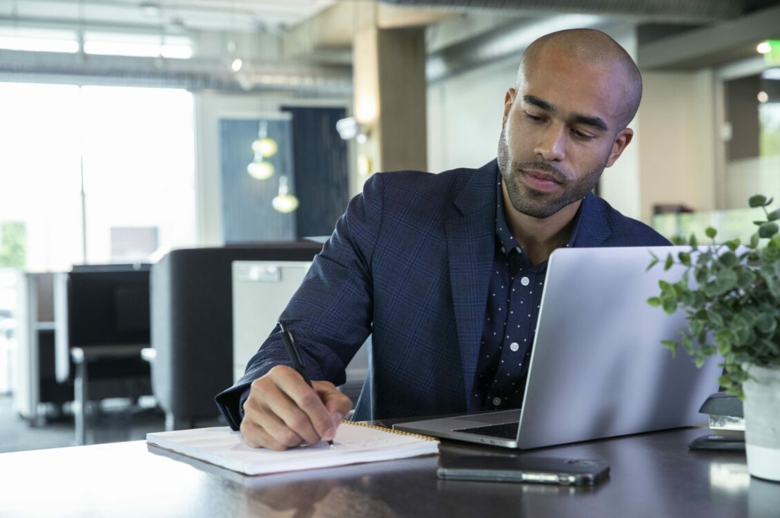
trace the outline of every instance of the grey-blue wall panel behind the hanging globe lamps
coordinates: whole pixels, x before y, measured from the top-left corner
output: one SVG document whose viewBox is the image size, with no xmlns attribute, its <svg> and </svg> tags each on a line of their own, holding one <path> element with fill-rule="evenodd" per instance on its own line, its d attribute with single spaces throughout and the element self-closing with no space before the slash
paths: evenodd
<svg viewBox="0 0 780 518">
<path fill-rule="evenodd" d="M 276 154 L 268 158 L 275 174 L 264 180 L 254 179 L 246 172 L 246 166 L 254 160 L 252 142 L 257 139 L 260 119 L 219 121 L 225 243 L 278 241 L 296 236 L 295 214 L 282 214 L 271 206 L 271 200 L 278 194 L 279 176 L 287 176 L 289 185 L 295 185 L 290 121 L 264 120 L 268 122 L 268 137 L 278 144 Z"/>
</svg>

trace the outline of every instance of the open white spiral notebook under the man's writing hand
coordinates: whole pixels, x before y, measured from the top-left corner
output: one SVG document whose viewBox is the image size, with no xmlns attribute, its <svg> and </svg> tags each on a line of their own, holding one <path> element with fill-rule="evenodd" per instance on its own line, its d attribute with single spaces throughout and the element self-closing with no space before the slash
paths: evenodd
<svg viewBox="0 0 780 518">
<path fill-rule="evenodd" d="M 228 427 L 147 434 L 147 443 L 247 475 L 312 470 L 319 467 L 433 455 L 438 440 L 425 435 L 344 421 L 333 439 L 277 452 L 251 448 Z"/>
</svg>

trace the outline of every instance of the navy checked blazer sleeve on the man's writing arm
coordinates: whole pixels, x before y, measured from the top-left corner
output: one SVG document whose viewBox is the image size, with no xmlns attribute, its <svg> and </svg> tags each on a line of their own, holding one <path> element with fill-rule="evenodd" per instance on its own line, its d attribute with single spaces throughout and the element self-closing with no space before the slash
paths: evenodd
<svg viewBox="0 0 780 518">
<path fill-rule="evenodd" d="M 279 320 L 293 333 L 303 365 L 313 380 L 344 383 L 346 365 L 371 333 L 371 260 L 381 231 L 381 173 L 367 180 L 349 202 L 306 277 Z M 229 426 L 237 430 L 250 384 L 278 364 L 289 365 L 278 325 L 246 365 L 242 378 L 216 398 Z"/>
</svg>

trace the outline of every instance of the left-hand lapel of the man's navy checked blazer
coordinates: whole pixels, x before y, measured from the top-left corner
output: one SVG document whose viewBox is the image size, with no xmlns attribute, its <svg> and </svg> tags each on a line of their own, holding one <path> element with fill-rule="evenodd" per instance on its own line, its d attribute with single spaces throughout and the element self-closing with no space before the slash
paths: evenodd
<svg viewBox="0 0 780 518">
<path fill-rule="evenodd" d="M 469 408 L 495 255 L 495 160 L 477 169 L 456 197 L 459 214 L 445 222 L 452 302 Z"/>
</svg>

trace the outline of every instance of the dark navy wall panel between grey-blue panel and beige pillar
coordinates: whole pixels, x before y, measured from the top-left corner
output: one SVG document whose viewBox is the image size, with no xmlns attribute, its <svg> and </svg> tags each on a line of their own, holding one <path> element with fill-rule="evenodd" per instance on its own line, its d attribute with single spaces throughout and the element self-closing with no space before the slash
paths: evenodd
<svg viewBox="0 0 780 518">
<path fill-rule="evenodd" d="M 297 236 L 330 236 L 349 203 L 346 142 L 336 131 L 346 111 L 289 106 L 282 111 L 293 114 Z"/>
</svg>

